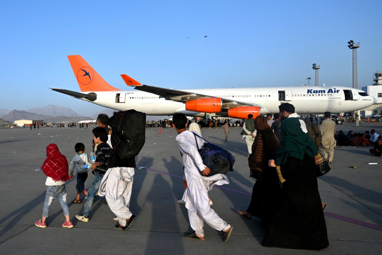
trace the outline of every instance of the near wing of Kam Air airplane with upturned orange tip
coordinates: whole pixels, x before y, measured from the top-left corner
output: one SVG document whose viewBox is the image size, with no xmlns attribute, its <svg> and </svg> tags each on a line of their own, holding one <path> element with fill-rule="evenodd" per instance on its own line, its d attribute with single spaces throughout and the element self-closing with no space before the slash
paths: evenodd
<svg viewBox="0 0 382 255">
<path fill-rule="evenodd" d="M 177 102 L 186 102 L 189 100 L 193 99 L 198 99 L 198 98 L 208 98 L 208 97 L 214 97 L 214 96 L 209 96 L 209 95 L 204 95 L 204 94 L 199 94 L 199 93 L 192 93 L 188 91 L 181 91 L 177 89 L 166 89 L 166 88 L 160 88 L 160 87 L 154 87 L 154 86 L 149 86 L 149 85 L 144 85 L 141 84 L 132 78 L 130 78 L 127 75 L 121 75 L 123 80 L 128 86 L 134 87 L 134 89 L 156 94 L 158 96 L 164 97 L 168 100 L 173 100 Z M 241 101 L 236 101 L 233 99 L 228 99 L 228 98 L 222 98 L 223 99 L 223 108 L 233 108 L 233 107 L 238 107 L 238 106 L 258 106 L 260 108 L 263 108 L 262 106 L 254 103 L 247 103 L 247 102 L 241 102 Z"/>
</svg>

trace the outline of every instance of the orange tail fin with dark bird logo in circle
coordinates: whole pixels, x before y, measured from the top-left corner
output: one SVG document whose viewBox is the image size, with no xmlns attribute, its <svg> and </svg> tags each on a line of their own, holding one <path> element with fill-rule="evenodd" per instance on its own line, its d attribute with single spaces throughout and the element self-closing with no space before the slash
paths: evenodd
<svg viewBox="0 0 382 255">
<path fill-rule="evenodd" d="M 108 84 L 80 55 L 68 56 L 81 91 L 120 90 Z"/>
</svg>

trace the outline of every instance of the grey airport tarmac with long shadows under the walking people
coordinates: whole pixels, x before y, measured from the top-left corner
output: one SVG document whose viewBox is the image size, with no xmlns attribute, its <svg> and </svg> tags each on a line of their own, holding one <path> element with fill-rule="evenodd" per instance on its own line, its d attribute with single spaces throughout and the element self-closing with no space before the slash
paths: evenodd
<svg viewBox="0 0 382 255">
<path fill-rule="evenodd" d="M 338 125 L 337 130 L 364 132 L 371 128 L 382 135 L 380 123 Z M 71 204 L 76 196 L 76 178 L 66 182 L 70 217 L 74 227 L 61 227 L 63 211 L 58 199 L 50 207 L 47 228 L 34 226 L 41 218 L 46 176 L 35 169 L 46 158 L 46 146 L 56 143 L 68 161 L 82 142 L 91 151 L 91 128 L 0 129 L 0 253 L 1 254 L 380 254 L 382 249 L 382 158 L 369 153 L 372 147 L 335 148 L 332 170 L 318 178 L 322 201 L 327 204 L 325 220 L 329 247 L 320 251 L 290 250 L 261 246 L 264 231 L 257 218 L 251 220 L 236 210 L 248 207 L 254 181 L 249 177 L 247 149 L 241 128 L 230 128 L 228 142 L 221 128 L 202 128 L 203 137 L 234 154 L 234 172 L 229 185 L 209 192 L 212 208 L 234 229 L 222 242 L 220 231 L 204 226 L 204 241 L 187 240 L 191 232 L 184 205 L 176 203 L 183 194 L 183 167 L 175 129 L 146 128 L 146 143 L 136 157 L 136 172 L 130 202 L 137 216 L 128 231 L 117 230 L 113 213 L 98 197 L 90 221 L 78 221 L 84 202 Z M 378 163 L 367 165 L 367 163 Z M 356 166 L 356 169 L 350 168 Z M 144 167 L 139 169 L 138 167 Z M 76 177 L 76 176 L 74 176 Z M 89 173 L 85 183 L 91 185 Z M 83 199 L 83 198 L 82 198 Z M 286 219 L 287 220 L 287 219 Z"/>
</svg>

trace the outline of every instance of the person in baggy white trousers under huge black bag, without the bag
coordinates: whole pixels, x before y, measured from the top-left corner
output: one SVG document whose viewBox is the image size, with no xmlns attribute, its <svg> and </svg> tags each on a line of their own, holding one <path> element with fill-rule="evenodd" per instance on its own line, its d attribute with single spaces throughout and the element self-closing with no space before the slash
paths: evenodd
<svg viewBox="0 0 382 255">
<path fill-rule="evenodd" d="M 113 149 L 109 132 L 107 143 Z M 136 216 L 129 209 L 131 190 L 133 188 L 135 158 L 121 160 L 112 150 L 109 168 L 102 178 L 98 195 L 105 196 L 107 204 L 117 216 L 115 227 L 127 230 Z"/>
</svg>

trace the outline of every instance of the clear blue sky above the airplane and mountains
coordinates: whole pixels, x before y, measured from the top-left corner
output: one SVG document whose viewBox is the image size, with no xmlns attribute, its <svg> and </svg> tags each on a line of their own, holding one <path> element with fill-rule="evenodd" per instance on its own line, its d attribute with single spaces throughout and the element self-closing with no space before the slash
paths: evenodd
<svg viewBox="0 0 382 255">
<path fill-rule="evenodd" d="M 66 55 L 81 55 L 112 86 L 120 74 L 173 89 L 358 87 L 382 71 L 380 1 L 6 1 L 0 8 L 0 109 L 49 104 L 82 115 L 104 107 L 80 91 Z M 207 37 L 204 37 L 207 36 Z M 189 37 L 189 38 L 188 38 Z"/>
</svg>

